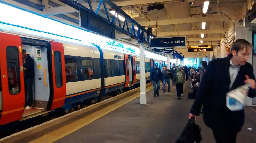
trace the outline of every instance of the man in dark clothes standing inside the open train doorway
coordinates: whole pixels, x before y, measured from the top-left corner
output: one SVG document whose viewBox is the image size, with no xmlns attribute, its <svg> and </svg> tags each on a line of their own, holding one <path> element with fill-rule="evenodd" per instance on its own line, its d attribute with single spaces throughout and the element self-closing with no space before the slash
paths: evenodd
<svg viewBox="0 0 256 143">
<path fill-rule="evenodd" d="M 33 102 L 33 82 L 35 77 L 34 60 L 27 54 L 26 50 L 22 50 L 23 58 L 23 70 L 24 70 L 24 82 L 25 82 L 25 98 L 26 108 L 29 110 L 32 107 Z M 28 96 L 27 96 L 28 95 Z"/>
</svg>

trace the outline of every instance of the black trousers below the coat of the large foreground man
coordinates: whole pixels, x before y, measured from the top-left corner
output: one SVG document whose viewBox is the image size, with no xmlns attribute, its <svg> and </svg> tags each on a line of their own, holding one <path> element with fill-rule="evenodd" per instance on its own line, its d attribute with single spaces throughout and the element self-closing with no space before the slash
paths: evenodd
<svg viewBox="0 0 256 143">
<path fill-rule="evenodd" d="M 236 143 L 236 136 L 238 132 L 218 132 L 213 131 L 216 143 Z"/>
</svg>

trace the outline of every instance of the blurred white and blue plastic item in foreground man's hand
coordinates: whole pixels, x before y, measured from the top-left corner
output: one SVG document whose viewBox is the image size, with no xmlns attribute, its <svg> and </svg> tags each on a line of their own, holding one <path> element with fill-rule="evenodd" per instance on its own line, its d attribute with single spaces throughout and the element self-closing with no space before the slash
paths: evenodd
<svg viewBox="0 0 256 143">
<path fill-rule="evenodd" d="M 251 85 L 245 84 L 236 89 L 229 91 L 226 94 L 226 106 L 231 111 L 239 111 L 244 109 L 246 103 L 246 97 L 250 90 Z"/>
</svg>

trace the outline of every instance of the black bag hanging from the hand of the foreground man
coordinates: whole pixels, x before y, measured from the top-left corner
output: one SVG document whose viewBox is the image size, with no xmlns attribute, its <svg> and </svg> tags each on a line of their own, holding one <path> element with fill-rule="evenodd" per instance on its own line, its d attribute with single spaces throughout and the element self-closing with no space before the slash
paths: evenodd
<svg viewBox="0 0 256 143">
<path fill-rule="evenodd" d="M 191 118 L 184 128 L 180 138 L 176 140 L 176 143 L 200 143 L 200 141 L 202 141 L 200 133 L 201 128 L 199 125 L 195 124 L 195 118 Z"/>
</svg>

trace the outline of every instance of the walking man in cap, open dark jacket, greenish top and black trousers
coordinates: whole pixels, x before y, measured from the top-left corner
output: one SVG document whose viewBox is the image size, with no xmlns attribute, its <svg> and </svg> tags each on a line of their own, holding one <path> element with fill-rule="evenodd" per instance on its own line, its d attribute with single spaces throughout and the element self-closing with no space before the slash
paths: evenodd
<svg viewBox="0 0 256 143">
<path fill-rule="evenodd" d="M 183 93 L 184 83 L 185 83 L 185 72 L 182 70 L 182 67 L 179 66 L 173 76 L 173 81 L 172 81 L 172 85 L 174 84 L 176 85 L 178 99 L 180 99 L 180 96 Z"/>
</svg>

